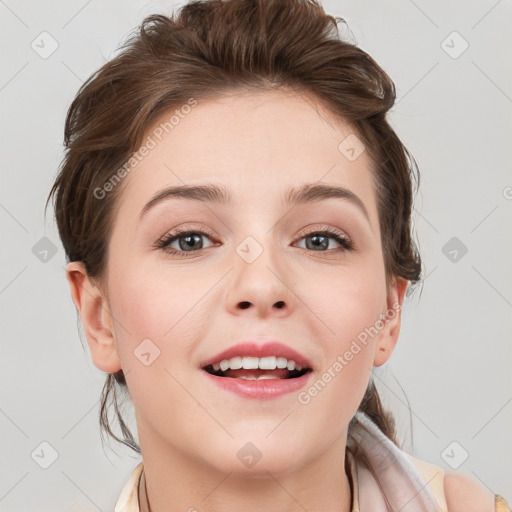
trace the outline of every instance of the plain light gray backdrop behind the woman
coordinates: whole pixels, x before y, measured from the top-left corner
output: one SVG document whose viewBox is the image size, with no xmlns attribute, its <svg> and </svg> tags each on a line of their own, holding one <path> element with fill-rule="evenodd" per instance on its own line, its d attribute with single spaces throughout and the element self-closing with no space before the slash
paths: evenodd
<svg viewBox="0 0 512 512">
<path fill-rule="evenodd" d="M 113 442 L 103 451 L 105 375 L 82 349 L 53 211 L 45 222 L 43 206 L 81 83 L 146 15 L 182 4 L 0 0 L 2 511 L 113 510 L 139 462 Z M 512 4 L 323 5 L 394 79 L 391 120 L 422 177 L 414 225 L 427 278 L 375 379 L 406 448 L 446 470 L 467 452 L 458 470 L 512 503 Z M 58 43 L 46 59 L 31 47 L 43 31 Z M 46 263 L 33 252 L 45 236 L 58 248 Z M 453 248 L 443 252 L 452 237 L 467 247 L 457 261 L 444 254 Z M 58 454 L 48 469 L 43 442 Z"/>
</svg>

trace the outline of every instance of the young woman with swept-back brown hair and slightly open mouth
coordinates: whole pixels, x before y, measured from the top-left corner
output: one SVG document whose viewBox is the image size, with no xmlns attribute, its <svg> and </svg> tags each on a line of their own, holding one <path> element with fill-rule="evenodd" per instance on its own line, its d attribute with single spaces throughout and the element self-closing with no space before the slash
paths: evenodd
<svg viewBox="0 0 512 512">
<path fill-rule="evenodd" d="M 371 379 L 421 279 L 394 100 L 314 0 L 151 16 L 82 86 L 48 199 L 142 456 L 116 512 L 510 511 L 401 449 Z"/>
</svg>

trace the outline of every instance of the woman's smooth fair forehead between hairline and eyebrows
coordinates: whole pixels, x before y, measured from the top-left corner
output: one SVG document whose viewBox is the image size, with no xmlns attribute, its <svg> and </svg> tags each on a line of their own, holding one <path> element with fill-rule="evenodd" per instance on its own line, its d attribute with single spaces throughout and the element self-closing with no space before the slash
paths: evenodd
<svg viewBox="0 0 512 512">
<path fill-rule="evenodd" d="M 291 186 L 322 182 L 349 188 L 375 215 L 369 157 L 347 158 L 340 143 L 354 130 L 314 97 L 244 91 L 194 101 L 163 112 L 146 131 L 152 148 L 124 184 L 121 208 L 140 213 L 172 185 L 223 184 L 241 206 L 281 202 Z"/>
</svg>

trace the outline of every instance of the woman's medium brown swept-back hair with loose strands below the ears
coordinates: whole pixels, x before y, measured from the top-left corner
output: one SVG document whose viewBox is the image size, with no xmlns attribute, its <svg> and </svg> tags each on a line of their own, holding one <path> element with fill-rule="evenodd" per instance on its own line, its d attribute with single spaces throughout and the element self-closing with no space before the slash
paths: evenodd
<svg viewBox="0 0 512 512">
<path fill-rule="evenodd" d="M 340 36 L 340 22 L 317 0 L 202 0 L 170 16 L 147 17 L 81 86 L 67 113 L 65 157 L 46 202 L 53 197 L 67 259 L 83 262 L 89 277 L 101 282 L 123 183 L 105 197 L 93 191 L 125 165 L 162 113 L 190 98 L 287 89 L 314 97 L 363 141 L 372 162 L 388 290 L 392 277 L 418 282 L 421 260 L 410 217 L 419 173 L 386 118 L 395 87 L 367 53 Z M 140 453 L 119 409 L 118 394 L 126 398 L 127 391 L 122 370 L 107 375 L 100 430 Z M 109 399 L 123 438 L 110 427 Z M 359 410 L 398 445 L 394 419 L 372 379 Z"/>
</svg>

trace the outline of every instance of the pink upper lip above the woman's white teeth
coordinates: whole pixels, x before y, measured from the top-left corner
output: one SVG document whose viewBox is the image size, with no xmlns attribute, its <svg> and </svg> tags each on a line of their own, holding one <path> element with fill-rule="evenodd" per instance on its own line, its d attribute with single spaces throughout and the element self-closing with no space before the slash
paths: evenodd
<svg viewBox="0 0 512 512">
<path fill-rule="evenodd" d="M 284 357 L 288 360 L 295 361 L 302 368 L 311 368 L 311 362 L 305 356 L 297 352 L 295 349 L 280 343 L 279 341 L 268 341 L 265 343 L 256 343 L 254 341 L 244 341 L 237 343 L 232 347 L 210 357 L 201 363 L 201 368 L 214 363 L 220 363 L 223 359 L 231 359 L 232 357 L 267 357 L 276 356 Z"/>
</svg>

